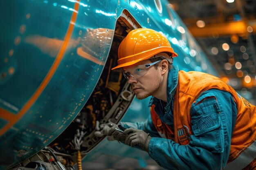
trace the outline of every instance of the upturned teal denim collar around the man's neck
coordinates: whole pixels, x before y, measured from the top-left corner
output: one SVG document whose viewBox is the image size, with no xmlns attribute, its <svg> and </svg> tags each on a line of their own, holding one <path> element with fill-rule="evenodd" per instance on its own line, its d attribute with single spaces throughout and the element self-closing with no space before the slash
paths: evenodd
<svg viewBox="0 0 256 170">
<path fill-rule="evenodd" d="M 165 106 L 165 110 L 168 113 L 171 110 L 171 102 L 173 100 L 173 97 L 175 95 L 175 91 L 177 88 L 178 83 L 178 75 L 179 74 L 179 68 L 177 66 L 173 66 L 173 68 L 168 72 L 168 79 L 167 79 L 167 104 Z M 151 97 L 150 102 L 148 106 L 152 106 L 152 104 L 157 105 L 159 102 L 159 99 L 156 97 Z"/>
</svg>

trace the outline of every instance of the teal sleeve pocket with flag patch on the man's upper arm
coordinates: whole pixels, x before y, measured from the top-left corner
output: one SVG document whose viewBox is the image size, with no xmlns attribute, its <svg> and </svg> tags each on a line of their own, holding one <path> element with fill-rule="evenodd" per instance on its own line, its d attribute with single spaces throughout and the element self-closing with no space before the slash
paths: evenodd
<svg viewBox="0 0 256 170">
<path fill-rule="evenodd" d="M 215 97 L 191 109 L 192 144 L 211 152 L 224 151 L 224 130 L 220 112 L 220 106 Z"/>
</svg>

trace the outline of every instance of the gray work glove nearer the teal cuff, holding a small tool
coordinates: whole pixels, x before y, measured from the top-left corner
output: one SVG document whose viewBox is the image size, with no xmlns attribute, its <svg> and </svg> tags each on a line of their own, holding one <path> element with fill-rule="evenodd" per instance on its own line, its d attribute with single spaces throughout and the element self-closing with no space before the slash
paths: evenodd
<svg viewBox="0 0 256 170">
<path fill-rule="evenodd" d="M 139 145 L 143 150 L 148 152 L 148 145 L 151 139 L 149 133 L 146 133 L 143 130 L 128 128 L 124 130 L 123 135 L 127 135 L 124 141 L 126 145 L 129 145 L 131 147 Z"/>
</svg>

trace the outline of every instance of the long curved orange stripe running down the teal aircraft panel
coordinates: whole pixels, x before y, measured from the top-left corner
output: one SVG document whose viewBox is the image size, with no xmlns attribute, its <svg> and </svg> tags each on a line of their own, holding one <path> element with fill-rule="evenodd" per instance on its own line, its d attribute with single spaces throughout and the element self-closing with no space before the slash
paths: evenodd
<svg viewBox="0 0 256 170">
<path fill-rule="evenodd" d="M 52 79 L 52 76 L 54 75 L 56 69 L 58 68 L 63 55 L 66 51 L 68 42 L 70 41 L 73 29 L 74 29 L 74 24 L 76 22 L 76 17 L 77 17 L 77 12 L 79 9 L 79 2 L 80 0 L 76 0 L 75 5 L 74 5 L 74 10 L 71 16 L 70 24 L 67 28 L 67 32 L 63 41 L 63 44 L 61 45 L 61 49 L 58 52 L 58 55 L 56 59 L 54 60 L 54 63 L 52 64 L 52 67 L 50 68 L 49 72 L 47 73 L 45 79 L 43 82 L 40 84 L 34 95 L 29 99 L 29 101 L 23 106 L 23 108 L 20 110 L 20 112 L 13 117 L 13 119 L 9 120 L 8 124 L 5 125 L 1 130 L 0 130 L 0 136 L 3 135 L 9 128 L 11 128 L 26 112 L 29 110 L 29 108 L 34 104 L 36 99 L 40 96 L 40 94 L 43 92 L 49 81 Z M 77 11 L 77 12 L 76 12 Z"/>
</svg>

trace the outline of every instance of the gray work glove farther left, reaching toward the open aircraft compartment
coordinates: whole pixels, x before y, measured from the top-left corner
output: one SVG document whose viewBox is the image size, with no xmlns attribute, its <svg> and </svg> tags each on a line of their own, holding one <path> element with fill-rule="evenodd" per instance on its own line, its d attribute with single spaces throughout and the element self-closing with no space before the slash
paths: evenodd
<svg viewBox="0 0 256 170">
<path fill-rule="evenodd" d="M 100 130 L 94 132 L 95 136 L 103 137 L 107 135 L 109 141 L 117 140 L 117 141 L 124 142 L 126 136 L 124 136 L 123 133 L 115 129 L 115 128 L 118 129 L 118 126 L 116 124 L 110 121 L 109 123 L 101 124 L 99 127 L 100 127 Z"/>
</svg>

